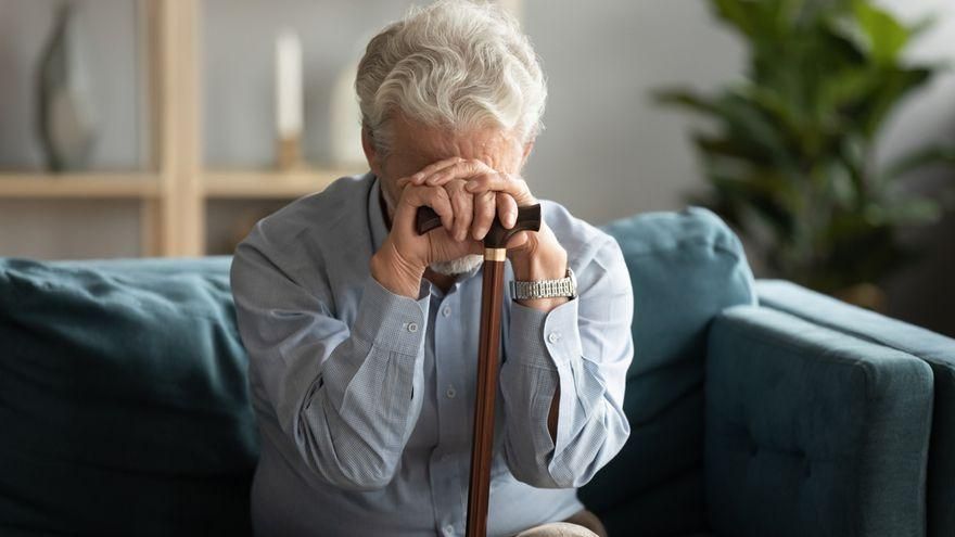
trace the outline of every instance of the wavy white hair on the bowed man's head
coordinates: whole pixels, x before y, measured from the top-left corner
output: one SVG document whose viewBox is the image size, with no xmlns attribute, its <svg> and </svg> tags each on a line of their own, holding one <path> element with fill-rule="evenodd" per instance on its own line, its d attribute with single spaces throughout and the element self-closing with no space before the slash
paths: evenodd
<svg viewBox="0 0 955 537">
<path fill-rule="evenodd" d="M 495 127 L 532 140 L 547 85 L 518 22 L 494 3 L 441 0 L 368 43 L 355 78 L 361 126 L 387 152 L 395 112 L 456 132 Z"/>
</svg>

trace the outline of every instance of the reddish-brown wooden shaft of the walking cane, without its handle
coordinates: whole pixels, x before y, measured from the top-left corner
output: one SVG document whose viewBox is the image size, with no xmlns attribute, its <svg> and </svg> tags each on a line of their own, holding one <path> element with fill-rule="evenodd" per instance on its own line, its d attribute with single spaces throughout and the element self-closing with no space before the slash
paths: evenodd
<svg viewBox="0 0 955 537">
<path fill-rule="evenodd" d="M 494 455 L 494 401 L 497 396 L 505 271 L 502 260 L 491 260 L 489 257 L 493 256 L 485 254 L 481 293 L 481 337 L 478 345 L 478 383 L 471 445 L 471 481 L 468 487 L 467 537 L 487 535 L 491 463 Z"/>
</svg>

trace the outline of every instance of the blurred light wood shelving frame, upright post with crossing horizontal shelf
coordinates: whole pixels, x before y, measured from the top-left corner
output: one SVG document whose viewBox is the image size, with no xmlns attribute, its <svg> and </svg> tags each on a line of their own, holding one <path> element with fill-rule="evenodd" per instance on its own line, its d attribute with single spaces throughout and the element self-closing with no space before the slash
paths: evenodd
<svg viewBox="0 0 955 537">
<path fill-rule="evenodd" d="M 520 16 L 522 0 L 499 0 Z M 291 201 L 324 190 L 365 165 L 277 170 L 203 169 L 202 0 L 141 0 L 137 87 L 149 88 L 149 162 L 155 171 L 0 171 L 0 200 L 112 200 L 140 205 L 143 256 L 206 253 L 208 201 Z M 137 2 L 139 3 L 139 2 Z M 139 29 L 139 28 L 138 28 Z"/>
</svg>

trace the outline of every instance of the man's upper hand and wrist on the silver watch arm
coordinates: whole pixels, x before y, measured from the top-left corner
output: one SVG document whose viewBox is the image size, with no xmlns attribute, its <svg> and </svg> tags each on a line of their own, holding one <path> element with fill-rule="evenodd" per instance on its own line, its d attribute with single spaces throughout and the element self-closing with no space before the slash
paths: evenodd
<svg viewBox="0 0 955 537">
<path fill-rule="evenodd" d="M 456 217 L 456 223 L 467 227 L 471 225 L 471 235 L 476 240 L 483 240 L 491 229 L 495 212 L 498 213 L 501 223 L 506 228 L 512 228 L 518 215 L 518 207 L 533 205 L 537 200 L 531 193 L 527 182 L 520 177 L 511 176 L 492 169 L 489 166 L 476 159 L 458 159 L 458 162 L 442 161 L 433 165 L 432 169 L 415 174 L 409 178 L 398 181 L 399 184 L 422 187 L 445 187 L 451 200 L 467 197 L 461 193 L 473 195 L 474 218 L 470 220 L 470 212 L 467 210 L 467 202 L 461 201 L 456 205 L 462 207 L 461 216 Z M 461 188 L 463 186 L 463 188 Z M 455 228 L 460 232 L 461 228 Z M 553 231 L 547 222 L 540 222 L 540 230 L 536 233 L 522 231 L 517 233 L 508 242 L 508 257 L 518 280 L 556 280 L 566 274 L 566 251 L 557 241 Z M 565 303 L 565 297 L 539 298 L 533 301 L 520 301 L 521 304 L 549 311 L 560 304 Z"/>
</svg>

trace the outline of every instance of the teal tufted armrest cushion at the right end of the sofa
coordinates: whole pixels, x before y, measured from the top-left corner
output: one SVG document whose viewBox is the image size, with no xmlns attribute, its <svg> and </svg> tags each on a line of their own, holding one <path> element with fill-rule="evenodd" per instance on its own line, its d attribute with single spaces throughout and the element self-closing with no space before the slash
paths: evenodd
<svg viewBox="0 0 955 537">
<path fill-rule="evenodd" d="M 717 535 L 925 535 L 932 373 L 769 308 L 714 321 L 706 499 Z"/>
</svg>

